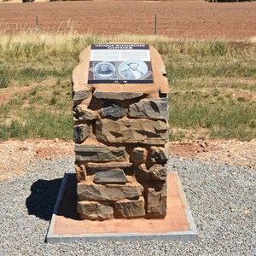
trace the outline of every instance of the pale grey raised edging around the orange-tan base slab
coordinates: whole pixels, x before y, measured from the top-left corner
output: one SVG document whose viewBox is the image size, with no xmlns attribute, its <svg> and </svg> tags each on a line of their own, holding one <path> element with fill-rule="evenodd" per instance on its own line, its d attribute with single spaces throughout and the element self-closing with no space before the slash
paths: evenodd
<svg viewBox="0 0 256 256">
<path fill-rule="evenodd" d="M 177 172 L 176 172 L 177 174 Z M 61 188 L 56 199 L 54 212 L 52 218 L 49 222 L 49 229 L 46 235 L 46 242 L 56 243 L 56 242 L 71 242 L 71 241 L 195 241 L 198 237 L 198 232 L 196 230 L 194 218 L 191 211 L 189 210 L 189 205 L 183 192 L 183 187 L 180 179 L 177 177 L 177 187 L 179 190 L 179 195 L 183 198 L 185 206 L 185 214 L 189 223 L 189 230 L 185 231 L 172 231 L 162 234 L 140 234 L 140 233 L 116 233 L 116 234 L 86 234 L 86 235 L 56 235 L 55 234 L 55 222 L 56 215 L 58 213 L 59 207 L 61 206 L 61 201 L 66 189 L 68 176 L 73 175 L 73 173 L 65 173 L 61 181 Z"/>
</svg>

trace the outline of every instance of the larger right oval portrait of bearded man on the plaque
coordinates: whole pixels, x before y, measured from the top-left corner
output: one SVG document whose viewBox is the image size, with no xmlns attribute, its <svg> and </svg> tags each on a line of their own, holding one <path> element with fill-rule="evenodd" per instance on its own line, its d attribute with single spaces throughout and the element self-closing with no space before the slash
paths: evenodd
<svg viewBox="0 0 256 256">
<path fill-rule="evenodd" d="M 148 73 L 148 65 L 144 61 L 124 61 L 119 66 L 119 74 L 125 79 L 142 79 Z"/>
</svg>

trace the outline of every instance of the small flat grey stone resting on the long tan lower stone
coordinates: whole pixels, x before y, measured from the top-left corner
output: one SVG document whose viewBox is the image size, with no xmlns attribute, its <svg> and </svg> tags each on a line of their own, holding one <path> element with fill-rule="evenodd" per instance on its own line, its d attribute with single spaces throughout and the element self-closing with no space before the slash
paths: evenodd
<svg viewBox="0 0 256 256">
<path fill-rule="evenodd" d="M 125 172 L 121 169 L 98 171 L 94 177 L 94 183 L 97 184 L 125 184 L 126 182 Z"/>
</svg>

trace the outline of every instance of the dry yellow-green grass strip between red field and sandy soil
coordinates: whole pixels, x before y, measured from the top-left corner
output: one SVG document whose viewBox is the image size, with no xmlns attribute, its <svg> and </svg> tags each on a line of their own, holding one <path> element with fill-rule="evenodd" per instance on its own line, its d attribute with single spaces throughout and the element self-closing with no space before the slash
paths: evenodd
<svg viewBox="0 0 256 256">
<path fill-rule="evenodd" d="M 255 43 L 25 32 L 0 38 L 0 139 L 71 139 L 79 53 L 127 41 L 153 45 L 166 64 L 171 140 L 256 137 Z"/>
</svg>

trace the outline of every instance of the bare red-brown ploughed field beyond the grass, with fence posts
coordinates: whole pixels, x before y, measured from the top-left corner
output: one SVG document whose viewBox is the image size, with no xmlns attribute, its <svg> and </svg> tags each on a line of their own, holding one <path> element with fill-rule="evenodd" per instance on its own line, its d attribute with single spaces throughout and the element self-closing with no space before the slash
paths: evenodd
<svg viewBox="0 0 256 256">
<path fill-rule="evenodd" d="M 52 2 L 0 5 L 0 32 L 36 26 L 56 32 L 153 34 L 181 38 L 245 39 L 256 37 L 256 3 L 206 2 Z"/>
</svg>

